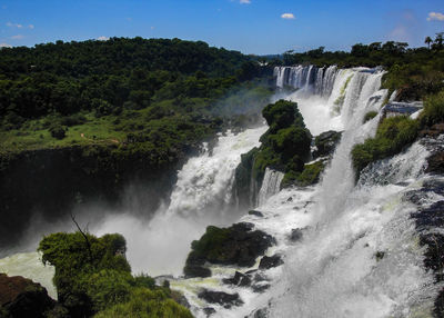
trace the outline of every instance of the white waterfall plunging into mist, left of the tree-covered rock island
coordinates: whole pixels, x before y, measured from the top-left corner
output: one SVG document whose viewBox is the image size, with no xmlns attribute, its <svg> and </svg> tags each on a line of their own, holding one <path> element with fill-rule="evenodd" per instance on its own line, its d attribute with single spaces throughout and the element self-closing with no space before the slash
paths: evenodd
<svg viewBox="0 0 444 318">
<path fill-rule="evenodd" d="M 228 131 L 212 150 L 190 158 L 178 173 L 170 205 L 148 222 L 131 215 L 113 216 L 93 232 L 122 233 L 134 272 L 181 275 L 191 242 L 209 225 L 228 226 L 239 219 L 238 211 L 230 209 L 234 171 L 241 155 L 259 146 L 266 129 L 263 125 L 240 133 Z"/>
</svg>

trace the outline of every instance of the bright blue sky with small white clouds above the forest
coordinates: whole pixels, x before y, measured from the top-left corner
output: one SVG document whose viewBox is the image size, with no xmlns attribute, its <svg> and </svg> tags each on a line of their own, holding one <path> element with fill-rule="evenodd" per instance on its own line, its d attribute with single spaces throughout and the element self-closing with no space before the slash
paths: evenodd
<svg viewBox="0 0 444 318">
<path fill-rule="evenodd" d="M 443 0 L 0 0 L 3 47 L 140 36 L 266 54 L 386 40 L 417 47 L 441 31 Z"/>
</svg>

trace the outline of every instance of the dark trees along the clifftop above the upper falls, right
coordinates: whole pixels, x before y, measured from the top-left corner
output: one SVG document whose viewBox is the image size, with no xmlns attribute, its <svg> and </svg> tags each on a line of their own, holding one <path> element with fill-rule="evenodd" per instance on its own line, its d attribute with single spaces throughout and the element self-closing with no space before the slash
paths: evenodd
<svg viewBox="0 0 444 318">
<path fill-rule="evenodd" d="M 311 63 L 319 67 L 336 64 L 340 68 L 382 66 L 389 72 L 383 87 L 398 90 L 400 100 L 421 100 L 444 88 L 444 33 L 427 37 L 427 47 L 408 48 L 408 43 L 389 41 L 357 43 L 350 52 L 325 51 L 324 47 L 303 53 L 287 51 L 275 64 Z"/>
</svg>

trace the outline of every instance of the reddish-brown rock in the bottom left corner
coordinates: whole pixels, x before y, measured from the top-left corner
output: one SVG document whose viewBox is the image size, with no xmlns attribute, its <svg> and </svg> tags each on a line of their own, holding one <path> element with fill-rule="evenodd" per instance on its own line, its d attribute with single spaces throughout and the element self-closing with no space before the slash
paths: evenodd
<svg viewBox="0 0 444 318">
<path fill-rule="evenodd" d="M 21 276 L 0 274 L 0 316 L 12 318 L 39 318 L 51 310 L 56 301 L 40 284 Z M 3 316 L 2 316 L 3 315 Z"/>
</svg>

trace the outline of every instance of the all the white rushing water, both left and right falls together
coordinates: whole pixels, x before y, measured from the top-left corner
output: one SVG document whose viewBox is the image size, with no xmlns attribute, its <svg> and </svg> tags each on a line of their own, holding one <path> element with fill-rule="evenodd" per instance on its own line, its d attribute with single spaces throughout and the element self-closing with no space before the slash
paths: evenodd
<svg viewBox="0 0 444 318">
<path fill-rule="evenodd" d="M 281 254 L 284 265 L 263 272 L 271 288 L 262 294 L 221 282 L 245 268 L 212 266 L 211 278 L 172 279 L 196 317 L 206 317 L 205 307 L 216 310 L 212 317 L 253 317 L 260 308 L 270 317 L 430 317 L 437 286 L 423 267 L 411 219 L 415 207 L 404 199 L 432 178 L 424 172 L 427 149 L 416 142 L 404 153 L 371 165 L 357 183 L 351 163 L 352 147 L 375 133 L 381 115 L 366 123 L 363 118 L 380 111 L 386 99 L 387 92 L 380 89 L 383 71 L 299 66 L 274 72 L 279 88 L 295 89 L 285 98 L 299 103 L 313 135 L 343 131 L 319 185 L 280 190 L 283 175 L 266 169 L 255 207 L 263 217 L 240 218 L 230 205 L 234 170 L 241 153 L 259 146 L 266 127 L 228 132 L 214 149 L 191 158 L 179 171 L 170 205 L 153 219 L 110 217 L 93 231 L 123 233 L 135 272 L 176 276 L 190 242 L 210 223 L 249 221 L 271 233 L 276 245 L 268 255 Z M 293 229 L 303 233 L 296 242 L 289 240 Z M 0 270 L 1 266 L 8 260 L 0 262 Z M 202 288 L 238 292 L 244 305 L 229 309 L 206 304 L 196 296 Z"/>
</svg>

